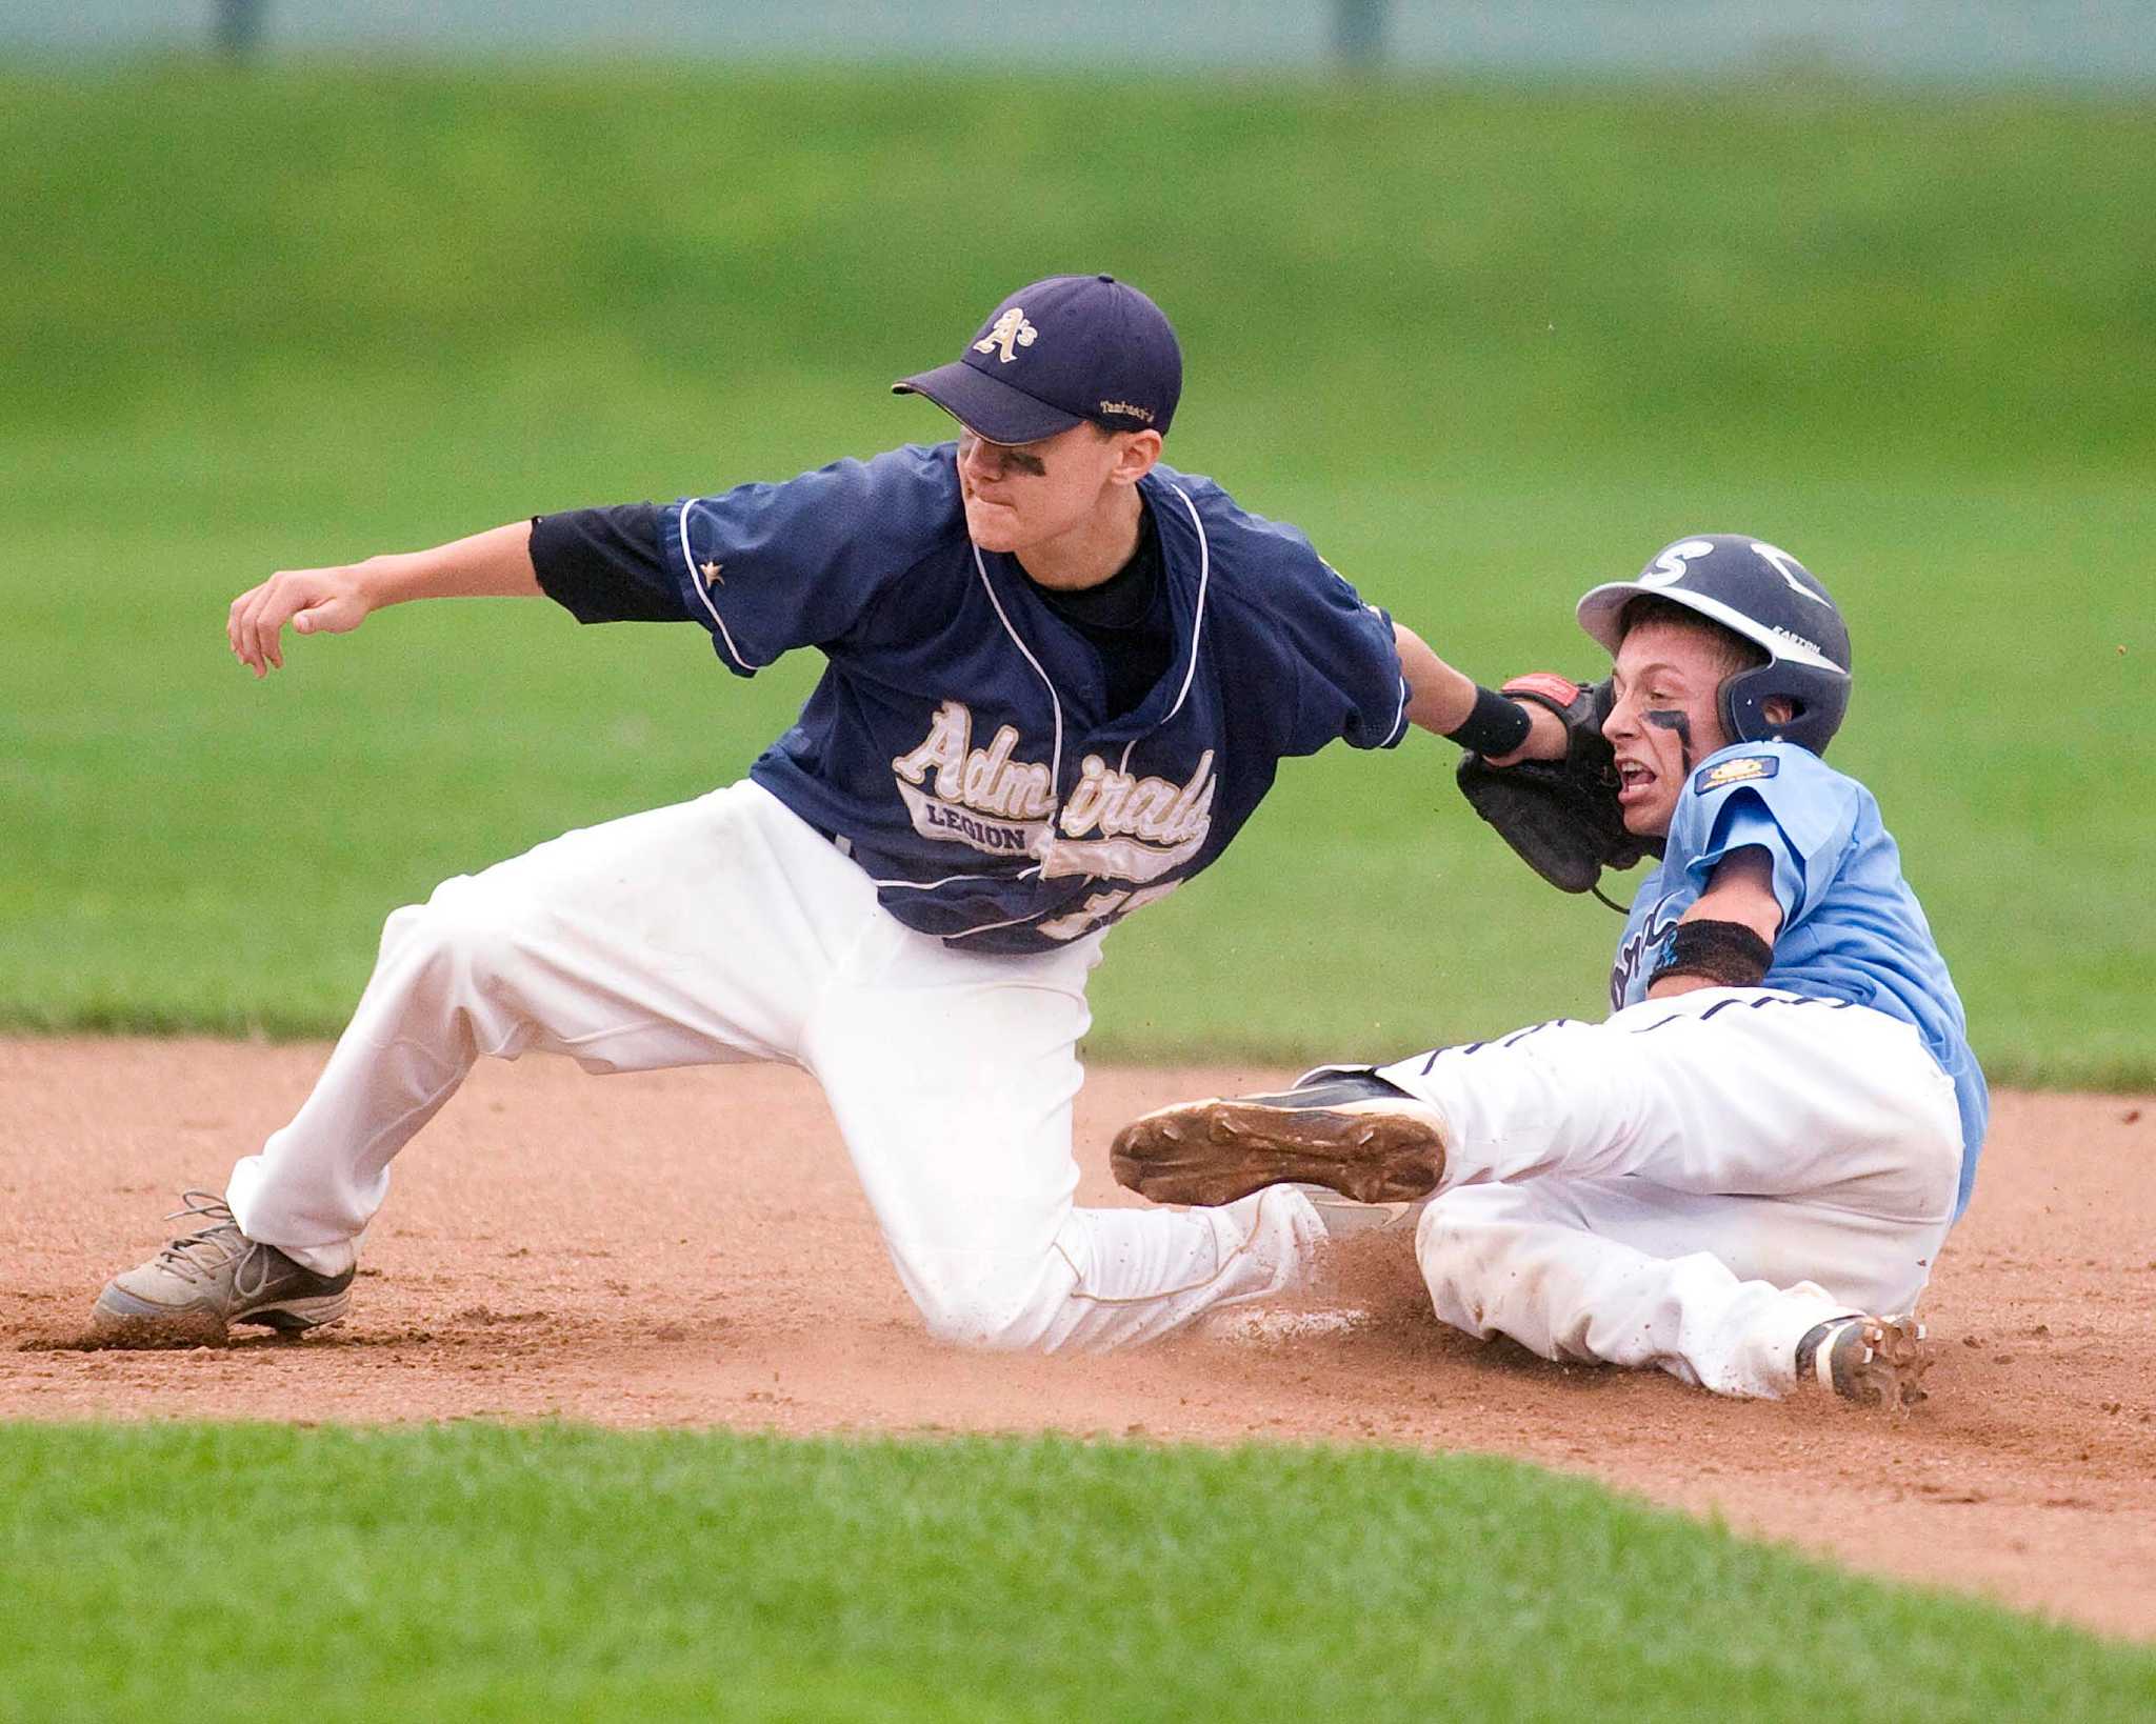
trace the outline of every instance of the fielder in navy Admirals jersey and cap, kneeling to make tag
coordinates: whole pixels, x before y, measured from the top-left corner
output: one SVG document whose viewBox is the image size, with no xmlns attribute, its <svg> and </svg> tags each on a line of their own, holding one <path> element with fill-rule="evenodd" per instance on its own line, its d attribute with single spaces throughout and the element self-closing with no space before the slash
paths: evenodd
<svg viewBox="0 0 2156 1724">
<path fill-rule="evenodd" d="M 1112 1345 L 1294 1282 L 1322 1235 L 1296 1192 L 1074 1207 L 1087 974 L 1117 920 L 1227 849 L 1281 759 L 1453 733 L 1494 696 L 1300 532 L 1160 463 L 1181 353 L 1125 282 L 1035 282 L 895 388 L 957 440 L 282 571 L 233 603 L 257 677 L 287 623 L 453 595 L 694 623 L 737 677 L 798 646 L 826 670 L 742 782 L 395 912 L 298 1116 L 222 1196 L 188 1194 L 196 1231 L 114 1278 L 101 1323 L 341 1317 L 390 1159 L 479 1056 L 526 1049 L 811 1071 L 940 1336 Z"/>
</svg>

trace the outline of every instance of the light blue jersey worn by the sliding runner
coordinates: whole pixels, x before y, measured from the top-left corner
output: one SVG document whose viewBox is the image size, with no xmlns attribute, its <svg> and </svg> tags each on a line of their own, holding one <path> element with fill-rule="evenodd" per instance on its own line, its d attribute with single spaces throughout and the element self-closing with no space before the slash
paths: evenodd
<svg viewBox="0 0 2156 1724">
<path fill-rule="evenodd" d="M 1923 907 L 1902 879 L 1902 851 L 1880 823 L 1871 791 L 1811 750 L 1746 741 L 1692 767 L 1669 823 L 1662 866 L 1632 899 L 1611 970 L 1611 1006 L 1647 998 L 1647 978 L 1667 955 L 1677 918 L 1714 864 L 1751 845 L 1774 860 L 1783 916 L 1764 985 L 1899 1017 L 1953 1080 L 1962 1110 L 1962 1187 L 1953 1202 L 1960 1215 L 1990 1118 L 1962 1000 Z"/>
</svg>

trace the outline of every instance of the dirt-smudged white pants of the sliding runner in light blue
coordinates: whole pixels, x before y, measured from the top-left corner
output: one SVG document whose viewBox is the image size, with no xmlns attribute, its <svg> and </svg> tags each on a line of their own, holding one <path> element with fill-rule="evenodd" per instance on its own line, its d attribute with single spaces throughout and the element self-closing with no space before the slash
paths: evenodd
<svg viewBox="0 0 2156 1724">
<path fill-rule="evenodd" d="M 1697 989 L 1382 1075 L 1451 1127 L 1438 1317 L 1548 1360 L 1787 1394 L 1813 1323 L 1915 1306 L 1953 1220 L 1953 1084 L 1867 1006 Z"/>
</svg>

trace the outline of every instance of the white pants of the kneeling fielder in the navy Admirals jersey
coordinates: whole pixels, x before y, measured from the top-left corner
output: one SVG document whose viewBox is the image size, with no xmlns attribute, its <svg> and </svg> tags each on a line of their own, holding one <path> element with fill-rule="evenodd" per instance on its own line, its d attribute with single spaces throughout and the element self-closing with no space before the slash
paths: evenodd
<svg viewBox="0 0 2156 1724">
<path fill-rule="evenodd" d="M 569 832 L 388 918 L 313 1095 L 233 1168 L 226 1200 L 250 1239 L 341 1274 L 390 1157 L 481 1054 L 537 1047 L 602 1073 L 780 1060 L 824 1084 L 934 1334 L 1147 1340 L 1291 1287 L 1324 1228 L 1289 1190 L 1227 1209 L 1074 1207 L 1100 940 L 994 957 L 914 933 L 750 782 Z"/>
</svg>

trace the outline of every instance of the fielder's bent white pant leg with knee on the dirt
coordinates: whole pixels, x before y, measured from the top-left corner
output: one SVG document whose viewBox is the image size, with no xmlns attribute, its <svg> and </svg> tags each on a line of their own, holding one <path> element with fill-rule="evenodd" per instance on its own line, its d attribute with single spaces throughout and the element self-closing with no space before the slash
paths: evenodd
<svg viewBox="0 0 2156 1724">
<path fill-rule="evenodd" d="M 1149 1340 L 1285 1291 L 1324 1235 L 1287 1190 L 1225 1209 L 1072 1205 L 1097 948 L 977 955 L 880 916 L 808 1026 L 808 1065 L 899 1278 L 946 1340 Z"/>
</svg>

